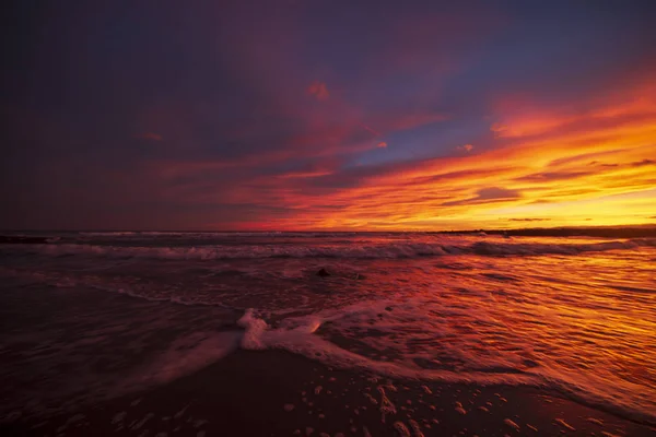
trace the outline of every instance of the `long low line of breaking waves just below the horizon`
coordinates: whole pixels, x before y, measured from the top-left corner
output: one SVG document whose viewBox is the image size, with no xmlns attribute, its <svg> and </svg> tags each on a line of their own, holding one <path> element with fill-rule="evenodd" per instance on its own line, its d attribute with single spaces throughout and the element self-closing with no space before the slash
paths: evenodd
<svg viewBox="0 0 656 437">
<path fill-rule="evenodd" d="M 656 247 L 655 238 L 598 243 L 385 243 L 347 245 L 218 245 L 177 247 L 122 247 L 86 244 L 35 244 L 3 247 L 0 253 L 35 253 L 42 256 L 90 256 L 145 259 L 260 259 L 260 258 L 417 258 L 449 255 L 540 256 L 578 255 L 585 252 L 632 250 Z"/>
</svg>

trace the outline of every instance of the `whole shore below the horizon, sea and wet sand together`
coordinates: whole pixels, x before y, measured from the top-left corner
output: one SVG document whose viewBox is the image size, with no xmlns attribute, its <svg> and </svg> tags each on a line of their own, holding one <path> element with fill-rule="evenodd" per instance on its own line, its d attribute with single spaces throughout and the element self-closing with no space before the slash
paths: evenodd
<svg viewBox="0 0 656 437">
<path fill-rule="evenodd" d="M 3 245 L 9 436 L 654 435 L 653 239 Z"/>
</svg>

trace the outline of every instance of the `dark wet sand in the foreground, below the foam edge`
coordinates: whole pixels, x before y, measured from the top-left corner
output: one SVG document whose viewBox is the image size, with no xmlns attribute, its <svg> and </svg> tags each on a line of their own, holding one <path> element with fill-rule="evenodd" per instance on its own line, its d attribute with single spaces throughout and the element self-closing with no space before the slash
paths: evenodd
<svg viewBox="0 0 656 437">
<path fill-rule="evenodd" d="M 383 412 L 386 414 L 383 414 Z M 3 436 L 654 436 L 656 429 L 525 387 L 389 380 L 278 351 L 236 351 L 196 374 Z"/>
</svg>

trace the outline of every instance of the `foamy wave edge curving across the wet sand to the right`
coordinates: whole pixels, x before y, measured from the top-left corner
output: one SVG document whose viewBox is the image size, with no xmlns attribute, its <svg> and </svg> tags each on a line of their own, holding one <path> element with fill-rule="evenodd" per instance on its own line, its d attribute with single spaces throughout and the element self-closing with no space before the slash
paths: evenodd
<svg viewBox="0 0 656 437">
<path fill-rule="evenodd" d="M 343 312 L 348 309 L 339 310 Z M 644 387 L 630 389 L 613 387 L 608 391 L 596 386 L 591 380 L 577 379 L 564 369 L 535 367 L 531 369 L 508 366 L 491 366 L 469 370 L 448 370 L 421 368 L 405 362 L 383 362 L 348 351 L 321 338 L 317 331 L 324 323 L 333 322 L 332 318 L 321 319 L 317 315 L 301 317 L 300 323 L 291 328 L 272 328 L 259 318 L 254 309 L 248 309 L 237 321 L 245 329 L 241 339 L 241 347 L 245 350 L 284 350 L 325 365 L 371 371 L 377 375 L 399 379 L 420 379 L 443 381 L 448 383 L 477 383 L 482 386 L 529 386 L 560 391 L 573 399 L 605 411 L 641 422 L 656 424 L 653 402 L 637 403 L 635 393 Z"/>
</svg>

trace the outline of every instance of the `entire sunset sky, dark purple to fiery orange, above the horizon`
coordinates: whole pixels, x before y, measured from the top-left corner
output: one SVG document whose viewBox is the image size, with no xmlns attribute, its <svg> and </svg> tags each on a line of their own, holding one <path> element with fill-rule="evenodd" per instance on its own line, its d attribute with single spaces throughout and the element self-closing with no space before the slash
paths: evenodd
<svg viewBox="0 0 656 437">
<path fill-rule="evenodd" d="M 0 228 L 656 224 L 656 2 L 13 1 Z"/>
</svg>

